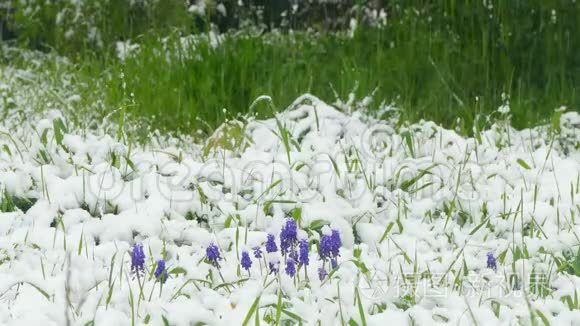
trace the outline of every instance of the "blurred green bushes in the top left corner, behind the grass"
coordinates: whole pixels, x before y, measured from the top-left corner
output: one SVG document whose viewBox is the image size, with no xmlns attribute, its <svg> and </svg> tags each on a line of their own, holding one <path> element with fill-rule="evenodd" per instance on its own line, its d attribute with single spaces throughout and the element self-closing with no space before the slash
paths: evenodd
<svg viewBox="0 0 580 326">
<path fill-rule="evenodd" d="M 118 40 L 155 30 L 187 32 L 191 15 L 182 0 L 2 0 L 4 21 L 21 45 L 77 56 L 108 51 Z"/>
</svg>

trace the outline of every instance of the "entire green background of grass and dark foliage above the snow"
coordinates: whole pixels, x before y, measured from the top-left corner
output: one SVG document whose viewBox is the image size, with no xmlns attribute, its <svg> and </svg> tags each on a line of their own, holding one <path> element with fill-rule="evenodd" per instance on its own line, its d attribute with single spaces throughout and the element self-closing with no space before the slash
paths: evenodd
<svg viewBox="0 0 580 326">
<path fill-rule="evenodd" d="M 376 90 L 371 109 L 394 102 L 409 120 L 465 133 L 508 99 L 517 127 L 547 121 L 561 105 L 578 110 L 580 4 L 571 0 L 314 2 L 295 10 L 288 1 L 208 1 L 203 15 L 182 0 L 8 2 L 4 25 L 16 42 L 68 56 L 79 78 L 105 91 L 110 110 L 130 101 L 132 113 L 154 116 L 162 129 L 211 129 L 247 113 L 257 96 L 283 109 L 304 92 L 332 102 Z M 212 29 L 229 31 L 220 46 L 181 46 L 180 37 Z M 140 50 L 119 60 L 120 40 Z"/>
</svg>

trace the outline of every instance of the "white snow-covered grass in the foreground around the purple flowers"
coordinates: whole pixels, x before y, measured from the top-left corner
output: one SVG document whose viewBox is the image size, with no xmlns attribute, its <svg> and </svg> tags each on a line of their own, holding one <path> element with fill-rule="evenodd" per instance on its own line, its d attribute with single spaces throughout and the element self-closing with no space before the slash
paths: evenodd
<svg viewBox="0 0 580 326">
<path fill-rule="evenodd" d="M 203 143 L 141 144 L 122 108 L 81 123 L 74 85 L 1 73 L 0 324 L 580 320 L 576 112 L 515 130 L 506 99 L 466 138 L 306 94 Z M 37 110 L 50 89 L 65 100 Z"/>
</svg>

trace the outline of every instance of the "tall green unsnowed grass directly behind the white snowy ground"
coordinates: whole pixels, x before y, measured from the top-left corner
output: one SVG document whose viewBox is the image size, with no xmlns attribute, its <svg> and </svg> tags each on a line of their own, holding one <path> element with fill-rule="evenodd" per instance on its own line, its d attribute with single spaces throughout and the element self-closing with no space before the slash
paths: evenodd
<svg viewBox="0 0 580 326">
<path fill-rule="evenodd" d="M 429 119 L 465 134 L 508 99 L 520 128 L 548 120 L 560 106 L 578 110 L 580 6 L 573 1 L 388 3 L 380 28 L 241 31 L 226 34 L 217 47 L 203 38 L 183 46 L 181 16 L 168 33 L 171 26 L 155 19 L 136 28 L 111 15 L 99 21 L 107 28 L 98 48 L 63 41 L 54 29 L 44 38 L 42 30 L 27 30 L 20 41 L 68 56 L 87 91 L 104 93 L 107 110 L 131 104 L 129 111 L 152 119 L 154 128 L 185 133 L 247 113 L 260 95 L 283 109 L 305 92 L 329 102 L 374 94 L 371 109 L 393 103 L 406 120 Z M 125 36 L 140 49 L 122 61 L 114 40 Z"/>
</svg>

